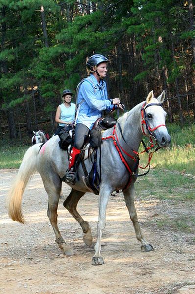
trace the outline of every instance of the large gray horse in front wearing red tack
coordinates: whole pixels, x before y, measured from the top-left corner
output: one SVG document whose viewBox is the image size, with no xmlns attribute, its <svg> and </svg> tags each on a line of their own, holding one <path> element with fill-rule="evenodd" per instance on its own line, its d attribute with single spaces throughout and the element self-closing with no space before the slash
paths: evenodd
<svg viewBox="0 0 195 294">
<path fill-rule="evenodd" d="M 140 146 L 142 137 L 146 135 L 150 140 L 153 138 L 159 147 L 167 147 L 171 141 L 165 126 L 166 112 L 161 107 L 165 98 L 165 92 L 156 99 L 153 91 L 148 94 L 145 102 L 135 106 L 118 119 L 115 128 L 104 131 L 104 140 L 101 144 L 101 183 L 99 186 L 99 218 L 97 224 L 97 242 L 95 254 L 92 257 L 92 265 L 104 263 L 101 256 L 101 237 L 106 225 L 106 208 L 109 196 L 113 191 L 122 190 L 130 219 L 133 223 L 137 240 L 141 243 L 142 251 L 151 251 L 153 246 L 144 239 L 137 218 L 134 206 L 134 182 L 137 178 L 138 164 L 136 151 Z M 66 152 L 58 146 L 59 137 L 54 136 L 47 141 L 40 150 L 40 144 L 30 147 L 21 163 L 19 172 L 13 183 L 7 200 L 9 216 L 14 221 L 24 223 L 21 211 L 21 202 L 24 189 L 35 171 L 41 175 L 45 190 L 48 194 L 47 215 L 53 227 L 58 246 L 64 254 L 73 254 L 57 225 L 57 208 L 60 197 L 62 181 L 66 173 L 68 158 Z M 87 150 L 86 158 L 87 158 Z M 123 159 L 122 159 L 123 158 Z M 91 170 L 92 163 L 85 160 L 86 169 Z M 99 152 L 97 151 L 97 170 L 99 171 Z M 72 187 L 71 193 L 64 201 L 65 208 L 79 222 L 86 245 L 92 245 L 90 226 L 77 211 L 77 204 L 80 198 L 90 192 L 84 182 L 82 166 L 78 167 L 79 180 Z"/>
</svg>

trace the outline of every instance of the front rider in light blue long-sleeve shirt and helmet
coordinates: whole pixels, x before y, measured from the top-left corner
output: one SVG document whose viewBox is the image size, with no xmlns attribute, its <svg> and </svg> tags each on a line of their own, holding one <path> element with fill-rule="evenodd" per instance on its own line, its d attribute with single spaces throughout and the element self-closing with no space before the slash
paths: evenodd
<svg viewBox="0 0 195 294">
<path fill-rule="evenodd" d="M 65 174 L 67 183 L 75 183 L 75 161 L 83 148 L 89 132 L 95 121 L 102 116 L 102 111 L 111 111 L 113 108 L 122 109 L 120 99 L 108 99 L 106 82 L 103 80 L 107 73 L 108 59 L 95 54 L 87 59 L 86 68 L 89 76 L 85 78 L 79 87 L 75 138 L 70 154 L 69 171 Z"/>
</svg>

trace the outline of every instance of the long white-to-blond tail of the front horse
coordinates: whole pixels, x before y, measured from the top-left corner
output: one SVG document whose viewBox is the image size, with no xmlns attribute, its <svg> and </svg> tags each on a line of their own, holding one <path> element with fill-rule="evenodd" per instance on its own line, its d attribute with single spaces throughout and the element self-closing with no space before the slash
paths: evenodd
<svg viewBox="0 0 195 294">
<path fill-rule="evenodd" d="M 26 151 L 18 174 L 16 175 L 16 178 L 8 192 L 8 213 L 13 221 L 25 223 L 24 216 L 21 210 L 22 196 L 28 181 L 37 170 L 36 163 L 39 149 L 40 144 L 35 144 Z"/>
</svg>

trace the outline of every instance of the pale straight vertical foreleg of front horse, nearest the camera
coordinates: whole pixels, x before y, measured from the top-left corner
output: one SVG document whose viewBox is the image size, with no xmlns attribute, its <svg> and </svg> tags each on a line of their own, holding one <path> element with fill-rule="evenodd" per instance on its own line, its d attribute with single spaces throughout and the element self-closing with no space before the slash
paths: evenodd
<svg viewBox="0 0 195 294">
<path fill-rule="evenodd" d="M 103 192 L 102 192 L 103 191 Z M 106 208 L 110 196 L 110 191 L 101 188 L 99 194 L 99 219 L 97 223 L 97 242 L 95 245 L 95 254 L 92 257 L 92 265 L 103 265 L 103 257 L 101 256 L 101 237 L 106 226 Z"/>
</svg>

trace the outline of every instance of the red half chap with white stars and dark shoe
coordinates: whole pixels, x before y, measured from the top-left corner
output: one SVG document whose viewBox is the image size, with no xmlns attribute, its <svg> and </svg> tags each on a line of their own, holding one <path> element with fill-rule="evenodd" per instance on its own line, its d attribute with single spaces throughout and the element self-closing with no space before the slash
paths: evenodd
<svg viewBox="0 0 195 294">
<path fill-rule="evenodd" d="M 76 159 L 78 158 L 80 152 L 81 152 L 81 150 L 76 149 L 75 147 L 73 147 L 71 149 L 70 160 L 69 160 L 69 170 L 65 174 L 65 182 L 66 183 L 70 183 L 72 185 L 75 184 L 75 181 L 76 181 L 75 162 L 76 162 Z"/>
</svg>

